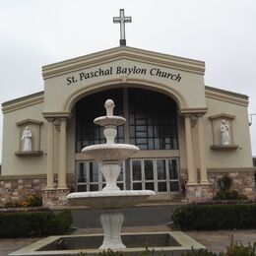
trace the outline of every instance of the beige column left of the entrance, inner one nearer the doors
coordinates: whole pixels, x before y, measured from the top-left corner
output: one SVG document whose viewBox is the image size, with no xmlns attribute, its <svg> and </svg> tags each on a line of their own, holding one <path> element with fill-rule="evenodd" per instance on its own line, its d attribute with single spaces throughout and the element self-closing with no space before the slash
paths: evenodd
<svg viewBox="0 0 256 256">
<path fill-rule="evenodd" d="M 58 189 L 66 189 L 66 122 L 67 118 L 60 118 L 60 161 L 58 173 Z"/>
</svg>

